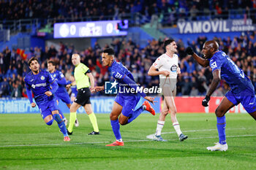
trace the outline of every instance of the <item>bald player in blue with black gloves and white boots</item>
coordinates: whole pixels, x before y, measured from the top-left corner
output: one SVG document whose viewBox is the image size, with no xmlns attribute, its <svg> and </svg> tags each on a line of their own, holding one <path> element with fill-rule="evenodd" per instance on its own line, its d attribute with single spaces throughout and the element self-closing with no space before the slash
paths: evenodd
<svg viewBox="0 0 256 170">
<path fill-rule="evenodd" d="M 244 74 L 243 70 L 239 69 L 222 50 L 219 50 L 219 45 L 216 41 L 208 41 L 203 45 L 202 53 L 204 58 L 200 58 L 192 50 L 192 47 L 187 47 L 186 52 L 199 63 L 201 66 L 211 66 L 213 80 L 211 86 L 206 94 L 206 98 L 203 99 L 203 107 L 208 107 L 208 101 L 210 101 L 211 94 L 217 88 L 221 77 L 230 85 L 230 90 L 222 98 L 219 106 L 215 110 L 217 115 L 217 129 L 219 133 L 219 142 L 213 147 L 207 147 L 207 150 L 226 151 L 226 118 L 225 113 L 241 103 L 249 113 L 256 120 L 256 98 L 255 89 L 251 80 Z"/>
</svg>

